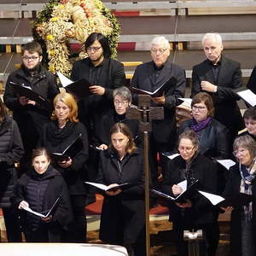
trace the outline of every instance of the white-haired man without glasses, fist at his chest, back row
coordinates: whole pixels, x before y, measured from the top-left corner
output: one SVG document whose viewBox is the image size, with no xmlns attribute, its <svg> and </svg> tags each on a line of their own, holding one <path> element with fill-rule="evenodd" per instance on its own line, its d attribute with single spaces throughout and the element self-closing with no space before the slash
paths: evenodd
<svg viewBox="0 0 256 256">
<path fill-rule="evenodd" d="M 202 39 L 202 46 L 207 60 L 193 67 L 191 97 L 200 91 L 212 96 L 214 118 L 229 129 L 233 140 L 244 128 L 236 104 L 240 96 L 234 91 L 241 87 L 240 63 L 222 55 L 224 47 L 218 33 L 207 33 Z"/>
</svg>

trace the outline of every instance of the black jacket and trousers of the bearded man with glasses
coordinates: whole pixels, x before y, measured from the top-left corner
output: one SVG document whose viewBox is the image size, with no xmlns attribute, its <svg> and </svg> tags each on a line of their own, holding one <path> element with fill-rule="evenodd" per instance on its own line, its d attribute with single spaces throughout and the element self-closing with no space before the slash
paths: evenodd
<svg viewBox="0 0 256 256">
<path fill-rule="evenodd" d="M 20 67 L 9 75 L 5 85 L 3 101 L 6 107 L 13 111 L 14 119 L 19 126 L 23 143 L 26 145 L 28 139 L 32 139 L 33 137 L 34 145 L 29 146 L 34 148 L 42 126 L 49 121 L 52 109 L 45 110 L 38 104 L 35 106 L 31 104 L 22 106 L 19 102 L 19 96 L 16 95 L 15 91 L 10 87 L 11 82 L 23 86 L 30 86 L 33 91 L 52 102 L 55 95 L 59 93 L 55 75 L 49 73 L 44 67 L 38 67 L 38 73 L 32 78 Z"/>
</svg>

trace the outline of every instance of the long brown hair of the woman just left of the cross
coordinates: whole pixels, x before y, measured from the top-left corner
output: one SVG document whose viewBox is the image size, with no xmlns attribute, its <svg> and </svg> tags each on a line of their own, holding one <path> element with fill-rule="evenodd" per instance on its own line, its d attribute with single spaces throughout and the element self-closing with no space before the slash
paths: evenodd
<svg viewBox="0 0 256 256">
<path fill-rule="evenodd" d="M 133 142 L 133 139 L 132 139 L 132 133 L 131 133 L 131 130 L 129 129 L 129 127 L 123 123 L 116 123 L 112 126 L 112 128 L 110 129 L 110 132 L 109 132 L 109 135 L 110 135 L 110 138 L 112 137 L 112 135 L 114 133 L 117 133 L 117 132 L 121 132 L 123 133 L 126 137 L 128 137 L 129 141 L 126 145 L 126 148 L 125 148 L 125 151 L 129 154 L 132 154 L 136 149 L 136 145 L 135 143 Z M 112 150 L 116 150 L 114 147 L 113 147 L 113 144 L 112 144 L 112 141 L 109 145 L 109 148 L 112 149 Z"/>
</svg>

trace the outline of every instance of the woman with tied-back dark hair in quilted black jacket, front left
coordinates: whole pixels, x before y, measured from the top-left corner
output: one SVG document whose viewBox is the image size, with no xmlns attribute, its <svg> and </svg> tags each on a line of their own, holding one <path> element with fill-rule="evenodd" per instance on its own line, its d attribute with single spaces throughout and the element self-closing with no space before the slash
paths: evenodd
<svg viewBox="0 0 256 256">
<path fill-rule="evenodd" d="M 24 210 L 30 207 L 32 211 L 45 214 L 58 198 L 60 199 L 49 217 L 39 217 Z M 50 165 L 45 148 L 32 151 L 32 170 L 20 177 L 12 201 L 23 213 L 26 241 L 61 241 L 63 229 L 67 229 L 67 224 L 72 220 L 72 211 L 67 184 L 61 173 Z"/>
</svg>

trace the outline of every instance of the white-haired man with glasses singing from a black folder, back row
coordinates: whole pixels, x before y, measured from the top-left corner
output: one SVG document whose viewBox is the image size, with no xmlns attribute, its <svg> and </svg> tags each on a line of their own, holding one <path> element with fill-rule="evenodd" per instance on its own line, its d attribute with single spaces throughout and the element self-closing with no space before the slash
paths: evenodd
<svg viewBox="0 0 256 256">
<path fill-rule="evenodd" d="M 175 108 L 178 104 L 177 99 L 184 96 L 186 78 L 183 68 L 169 60 L 170 44 L 165 37 L 153 38 L 150 52 L 152 61 L 137 67 L 131 86 L 153 92 L 172 77 L 177 81 L 172 83 L 162 96 L 151 97 L 153 107 L 161 106 L 165 109 L 165 119 L 154 120 L 152 125 L 150 150 L 151 154 L 156 155 L 157 152 L 172 151 L 174 147 L 176 141 Z M 137 101 L 136 95 L 134 101 Z"/>
</svg>

